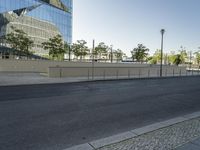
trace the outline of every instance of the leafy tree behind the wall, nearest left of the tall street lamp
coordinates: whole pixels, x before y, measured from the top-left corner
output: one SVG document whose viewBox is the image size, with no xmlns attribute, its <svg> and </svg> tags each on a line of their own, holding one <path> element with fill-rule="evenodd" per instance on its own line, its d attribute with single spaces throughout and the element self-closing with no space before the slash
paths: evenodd
<svg viewBox="0 0 200 150">
<path fill-rule="evenodd" d="M 145 61 L 147 59 L 148 51 L 149 51 L 149 49 L 146 48 L 144 45 L 138 44 L 138 47 L 134 48 L 131 51 L 133 60 L 136 60 L 137 62 L 142 63 L 143 61 Z"/>
</svg>

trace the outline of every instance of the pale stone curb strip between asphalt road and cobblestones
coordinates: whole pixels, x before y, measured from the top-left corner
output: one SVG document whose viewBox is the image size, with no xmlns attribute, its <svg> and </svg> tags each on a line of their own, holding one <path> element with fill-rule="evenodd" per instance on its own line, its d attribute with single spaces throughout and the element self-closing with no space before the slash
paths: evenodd
<svg viewBox="0 0 200 150">
<path fill-rule="evenodd" d="M 116 144 L 122 141 L 126 141 L 138 136 L 141 136 L 143 134 L 147 134 L 149 132 L 153 132 L 156 131 L 158 129 L 162 129 L 162 128 L 166 128 L 181 122 L 185 122 L 185 121 L 189 121 L 191 119 L 195 119 L 200 117 L 200 111 L 198 112 L 194 112 L 191 114 L 187 114 L 181 117 L 176 117 L 173 119 L 169 119 L 166 121 L 162 121 L 162 122 L 158 122 L 158 123 L 154 123 L 148 126 L 144 126 L 142 128 L 138 128 L 138 129 L 134 129 L 128 132 L 124 132 L 124 133 L 120 133 L 117 135 L 113 135 L 107 138 L 102 138 L 99 140 L 95 140 L 89 143 L 85 143 L 85 144 L 81 144 L 81 145 L 77 145 L 77 146 L 73 146 L 64 150 L 95 150 L 95 149 L 99 149 L 102 148 L 104 146 L 108 146 L 108 145 L 112 145 L 112 144 Z"/>
</svg>

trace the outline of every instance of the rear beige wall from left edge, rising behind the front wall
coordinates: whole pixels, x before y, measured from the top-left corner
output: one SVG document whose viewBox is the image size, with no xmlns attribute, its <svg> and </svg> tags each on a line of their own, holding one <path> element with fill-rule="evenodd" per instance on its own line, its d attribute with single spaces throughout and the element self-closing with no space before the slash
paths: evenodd
<svg viewBox="0 0 200 150">
<path fill-rule="evenodd" d="M 86 62 L 64 62 L 47 60 L 5 60 L 0 59 L 0 72 L 48 72 L 49 67 L 91 67 L 92 63 Z M 141 64 L 122 64 L 122 63 L 95 63 L 97 67 L 124 67 L 124 66 L 149 66 Z"/>
</svg>

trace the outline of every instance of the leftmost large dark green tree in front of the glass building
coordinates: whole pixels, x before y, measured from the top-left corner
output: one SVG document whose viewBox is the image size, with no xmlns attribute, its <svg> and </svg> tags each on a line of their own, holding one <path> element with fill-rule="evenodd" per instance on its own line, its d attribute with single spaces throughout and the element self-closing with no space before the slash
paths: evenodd
<svg viewBox="0 0 200 150">
<path fill-rule="evenodd" d="M 33 41 L 28 37 L 28 35 L 20 29 L 11 27 L 14 32 L 6 35 L 6 41 L 10 44 L 10 47 L 17 50 L 19 55 L 25 53 L 27 56 L 31 53 L 30 49 L 33 47 Z"/>
</svg>

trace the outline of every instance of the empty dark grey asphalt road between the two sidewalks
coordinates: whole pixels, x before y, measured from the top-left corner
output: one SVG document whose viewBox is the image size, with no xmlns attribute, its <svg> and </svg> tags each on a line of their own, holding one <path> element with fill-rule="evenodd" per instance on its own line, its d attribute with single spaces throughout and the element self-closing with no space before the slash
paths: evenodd
<svg viewBox="0 0 200 150">
<path fill-rule="evenodd" d="M 0 87 L 0 149 L 62 150 L 200 110 L 200 77 Z"/>
</svg>

